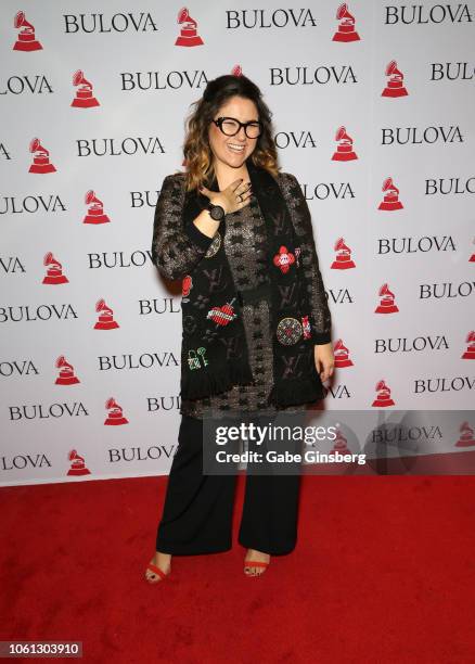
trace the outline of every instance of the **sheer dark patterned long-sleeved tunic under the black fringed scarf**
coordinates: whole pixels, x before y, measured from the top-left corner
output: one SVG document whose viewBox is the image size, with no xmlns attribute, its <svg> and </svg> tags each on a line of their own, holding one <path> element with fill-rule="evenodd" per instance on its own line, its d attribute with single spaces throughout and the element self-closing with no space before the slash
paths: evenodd
<svg viewBox="0 0 475 664">
<path fill-rule="evenodd" d="M 319 269 L 310 210 L 295 176 L 280 173 L 278 181 L 301 247 L 300 258 L 309 284 L 318 331 L 316 343 L 325 344 L 331 341 L 331 314 Z M 194 266 L 204 258 L 213 242 L 213 239 L 202 233 L 194 224 L 183 228 L 184 182 L 185 176 L 182 173 L 167 176 L 155 208 L 152 257 L 161 274 L 170 280 L 192 276 Z M 266 221 L 255 199 L 242 209 L 227 215 L 223 246 L 236 288 L 256 283 L 257 264 L 266 261 Z M 266 412 L 275 410 L 267 404 L 273 385 L 271 317 L 267 301 L 245 303 L 243 322 L 256 384 L 234 385 L 228 392 L 202 399 L 181 399 L 181 414 L 203 418 L 204 412 L 209 412 L 209 409 Z M 295 412 L 305 408 L 304 404 L 281 407 L 279 411 Z"/>
</svg>

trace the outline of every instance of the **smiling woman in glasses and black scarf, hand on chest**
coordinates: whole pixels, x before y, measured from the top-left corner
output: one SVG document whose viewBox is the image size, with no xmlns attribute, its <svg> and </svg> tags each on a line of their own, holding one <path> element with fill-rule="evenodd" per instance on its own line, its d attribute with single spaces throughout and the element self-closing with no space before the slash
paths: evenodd
<svg viewBox="0 0 475 664">
<path fill-rule="evenodd" d="M 234 476 L 203 475 L 207 413 L 301 413 L 333 373 L 331 315 L 303 191 L 280 173 L 271 113 L 245 76 L 208 82 L 188 119 L 185 173 L 164 179 L 152 254 L 182 280 L 181 424 L 156 552 L 145 578 L 171 556 L 231 548 Z M 239 541 L 244 572 L 296 542 L 299 475 L 247 473 Z"/>
</svg>

